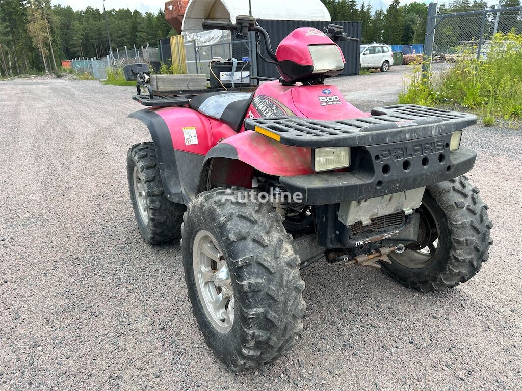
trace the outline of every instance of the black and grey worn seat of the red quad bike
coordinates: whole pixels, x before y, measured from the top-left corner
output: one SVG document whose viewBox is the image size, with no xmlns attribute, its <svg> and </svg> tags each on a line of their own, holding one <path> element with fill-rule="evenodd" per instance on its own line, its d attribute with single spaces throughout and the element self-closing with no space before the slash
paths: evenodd
<svg viewBox="0 0 522 391">
<path fill-rule="evenodd" d="M 219 119 L 239 132 L 253 96 L 251 92 L 206 92 L 194 96 L 188 102 L 188 106 L 209 117 Z"/>
</svg>

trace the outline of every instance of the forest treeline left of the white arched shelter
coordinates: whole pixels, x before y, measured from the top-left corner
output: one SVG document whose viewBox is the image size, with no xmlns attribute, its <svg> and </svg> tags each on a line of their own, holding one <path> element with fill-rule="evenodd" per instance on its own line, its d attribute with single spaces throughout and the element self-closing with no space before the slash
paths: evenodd
<svg viewBox="0 0 522 391">
<path fill-rule="evenodd" d="M 157 14 L 108 9 L 112 50 L 134 48 L 177 34 Z M 109 53 L 103 9 L 51 5 L 50 0 L 0 0 L 0 77 L 49 72 L 61 59 L 104 57 Z"/>
</svg>

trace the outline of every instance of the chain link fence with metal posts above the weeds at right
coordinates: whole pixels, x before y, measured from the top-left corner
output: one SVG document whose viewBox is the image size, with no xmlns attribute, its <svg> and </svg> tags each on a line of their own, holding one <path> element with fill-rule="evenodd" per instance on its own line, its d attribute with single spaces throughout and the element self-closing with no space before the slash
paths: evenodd
<svg viewBox="0 0 522 391">
<path fill-rule="evenodd" d="M 438 84 L 465 53 L 487 57 L 495 33 L 522 33 L 522 7 L 431 15 L 426 26 L 424 56 L 430 64 L 424 70 L 429 65 L 431 82 Z"/>
</svg>

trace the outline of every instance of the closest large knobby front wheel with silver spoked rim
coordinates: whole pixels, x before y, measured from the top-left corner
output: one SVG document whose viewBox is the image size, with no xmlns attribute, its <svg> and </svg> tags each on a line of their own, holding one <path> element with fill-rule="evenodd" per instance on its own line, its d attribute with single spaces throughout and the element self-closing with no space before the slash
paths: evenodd
<svg viewBox="0 0 522 391">
<path fill-rule="evenodd" d="M 199 329 L 234 370 L 280 357 L 301 333 L 305 311 L 300 259 L 281 216 L 268 203 L 238 202 L 241 194 L 199 194 L 184 215 L 181 245 Z"/>
</svg>

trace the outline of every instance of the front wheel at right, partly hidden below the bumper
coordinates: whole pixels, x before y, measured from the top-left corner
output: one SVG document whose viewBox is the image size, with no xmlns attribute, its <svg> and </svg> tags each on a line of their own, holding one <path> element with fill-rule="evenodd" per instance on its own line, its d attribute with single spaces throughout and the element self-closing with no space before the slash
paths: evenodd
<svg viewBox="0 0 522 391">
<path fill-rule="evenodd" d="M 465 176 L 427 187 L 418 210 L 419 241 L 389 254 L 392 263 L 383 264 L 383 272 L 421 291 L 466 282 L 488 260 L 493 244 L 487 210 Z"/>
</svg>

